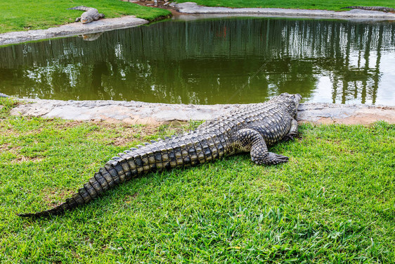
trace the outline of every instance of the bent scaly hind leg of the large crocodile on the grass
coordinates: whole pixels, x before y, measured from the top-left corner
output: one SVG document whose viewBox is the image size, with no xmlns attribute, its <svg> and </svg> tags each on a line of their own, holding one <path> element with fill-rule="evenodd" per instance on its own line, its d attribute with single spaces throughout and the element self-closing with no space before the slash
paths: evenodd
<svg viewBox="0 0 395 264">
<path fill-rule="evenodd" d="M 256 130 L 239 130 L 238 142 L 240 142 L 240 150 L 250 151 L 252 161 L 254 161 L 254 163 L 258 165 L 273 165 L 278 163 L 285 163 L 288 161 L 287 156 L 268 152 L 268 148 L 266 146 L 264 138 Z"/>
</svg>

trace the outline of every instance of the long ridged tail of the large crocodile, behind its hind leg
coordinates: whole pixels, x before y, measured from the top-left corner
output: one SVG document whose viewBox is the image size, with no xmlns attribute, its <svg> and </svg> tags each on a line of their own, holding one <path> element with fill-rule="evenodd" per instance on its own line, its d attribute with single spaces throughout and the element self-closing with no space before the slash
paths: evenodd
<svg viewBox="0 0 395 264">
<path fill-rule="evenodd" d="M 98 170 L 84 187 L 66 199 L 64 203 L 39 213 L 20 214 L 21 217 L 40 218 L 60 215 L 66 210 L 89 203 L 108 189 L 117 186 L 137 175 L 147 172 L 198 165 L 224 156 L 226 138 L 216 133 L 192 132 L 182 137 L 146 143 L 139 149 L 119 153 L 103 168 Z"/>
</svg>

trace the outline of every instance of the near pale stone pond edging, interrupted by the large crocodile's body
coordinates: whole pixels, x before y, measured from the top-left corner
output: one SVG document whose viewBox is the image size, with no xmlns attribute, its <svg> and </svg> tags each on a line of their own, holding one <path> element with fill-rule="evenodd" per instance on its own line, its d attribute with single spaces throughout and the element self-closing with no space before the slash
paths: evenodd
<svg viewBox="0 0 395 264">
<path fill-rule="evenodd" d="M 22 100 L 22 99 L 21 99 Z M 240 108 L 240 104 L 186 105 L 138 101 L 60 101 L 23 99 L 11 115 L 69 120 L 104 120 L 129 124 L 160 125 L 190 120 L 212 120 Z M 377 120 L 395 123 L 395 106 L 302 103 L 299 122 L 369 125 Z"/>
</svg>

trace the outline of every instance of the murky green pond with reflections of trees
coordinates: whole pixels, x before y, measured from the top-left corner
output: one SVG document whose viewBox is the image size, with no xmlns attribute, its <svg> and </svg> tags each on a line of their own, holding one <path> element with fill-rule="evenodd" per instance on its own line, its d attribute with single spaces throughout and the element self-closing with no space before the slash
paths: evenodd
<svg viewBox="0 0 395 264">
<path fill-rule="evenodd" d="M 395 23 L 167 20 L 0 48 L 0 92 L 63 100 L 395 105 Z"/>
</svg>

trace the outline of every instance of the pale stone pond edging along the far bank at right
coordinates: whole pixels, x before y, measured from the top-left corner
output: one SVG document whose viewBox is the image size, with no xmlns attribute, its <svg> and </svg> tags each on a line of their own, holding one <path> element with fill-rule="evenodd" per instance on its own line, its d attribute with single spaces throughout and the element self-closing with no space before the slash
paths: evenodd
<svg viewBox="0 0 395 264">
<path fill-rule="evenodd" d="M 358 20 L 395 20 L 395 13 L 384 13 L 381 11 L 367 11 L 353 9 L 350 11 L 328 11 L 328 10 L 308 10 L 308 9 L 287 9 L 287 8 L 227 8 L 227 7 L 209 7 L 198 6 L 193 2 L 181 4 L 171 3 L 171 7 L 176 8 L 180 13 L 188 14 L 255 14 L 267 16 L 285 16 L 285 17 L 316 17 L 316 18 L 341 18 L 341 19 L 358 19 Z M 345 5 L 347 6 L 347 5 Z"/>
</svg>

